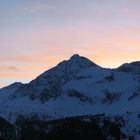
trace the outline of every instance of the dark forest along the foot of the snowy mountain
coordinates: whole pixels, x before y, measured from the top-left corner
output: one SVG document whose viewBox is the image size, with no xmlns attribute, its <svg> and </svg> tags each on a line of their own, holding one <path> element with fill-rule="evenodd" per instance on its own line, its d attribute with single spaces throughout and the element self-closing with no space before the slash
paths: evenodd
<svg viewBox="0 0 140 140">
<path fill-rule="evenodd" d="M 104 114 L 77 116 L 52 121 L 39 120 L 36 116 L 19 116 L 14 124 L 0 119 L 2 140 L 121 140 L 133 139 L 121 132 L 125 121 L 121 117 L 111 119 Z"/>
</svg>

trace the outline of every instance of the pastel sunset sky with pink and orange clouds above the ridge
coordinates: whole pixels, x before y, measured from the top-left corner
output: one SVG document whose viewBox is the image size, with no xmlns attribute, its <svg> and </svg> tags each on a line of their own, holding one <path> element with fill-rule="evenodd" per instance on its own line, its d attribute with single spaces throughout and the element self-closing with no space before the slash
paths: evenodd
<svg viewBox="0 0 140 140">
<path fill-rule="evenodd" d="M 140 0 L 0 0 L 0 87 L 73 54 L 102 67 L 140 60 Z"/>
</svg>

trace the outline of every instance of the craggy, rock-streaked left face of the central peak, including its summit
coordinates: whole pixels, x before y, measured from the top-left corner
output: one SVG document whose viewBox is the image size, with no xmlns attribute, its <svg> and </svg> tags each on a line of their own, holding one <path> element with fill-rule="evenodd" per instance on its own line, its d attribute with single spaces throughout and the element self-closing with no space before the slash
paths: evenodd
<svg viewBox="0 0 140 140">
<path fill-rule="evenodd" d="M 48 100 L 56 97 L 62 92 L 61 87 L 68 81 L 76 78 L 76 75 L 82 69 L 97 66 L 85 57 L 78 54 L 73 55 L 70 60 L 59 63 L 56 67 L 44 72 L 29 84 L 20 86 L 15 92 L 14 97 L 30 96 L 31 99 L 42 98 L 46 96 Z"/>
</svg>

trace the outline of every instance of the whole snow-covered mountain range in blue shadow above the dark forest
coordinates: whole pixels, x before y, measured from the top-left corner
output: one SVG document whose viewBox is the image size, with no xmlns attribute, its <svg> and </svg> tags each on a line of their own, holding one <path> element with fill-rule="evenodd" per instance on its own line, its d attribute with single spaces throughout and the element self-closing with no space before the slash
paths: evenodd
<svg viewBox="0 0 140 140">
<path fill-rule="evenodd" d="M 140 139 L 140 62 L 116 69 L 73 55 L 28 84 L 0 89 L 0 116 L 14 122 L 19 115 L 40 119 L 96 115 L 121 116 L 122 131 Z"/>
</svg>

